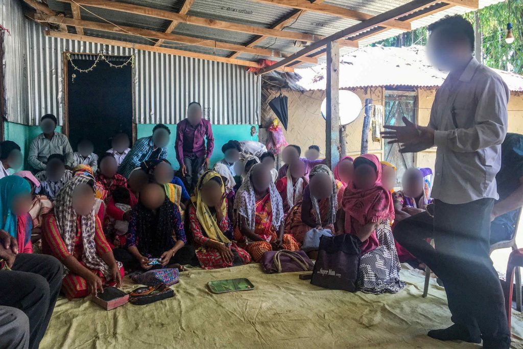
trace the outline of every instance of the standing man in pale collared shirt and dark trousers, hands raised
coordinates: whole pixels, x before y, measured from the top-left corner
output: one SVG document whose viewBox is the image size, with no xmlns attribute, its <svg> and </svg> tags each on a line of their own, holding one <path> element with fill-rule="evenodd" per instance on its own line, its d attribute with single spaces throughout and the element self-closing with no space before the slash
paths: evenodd
<svg viewBox="0 0 523 349">
<path fill-rule="evenodd" d="M 445 285 L 451 327 L 432 330 L 438 340 L 508 348 L 510 332 L 498 274 L 489 257 L 490 220 L 498 199 L 496 173 L 507 132 L 509 90 L 501 77 L 472 57 L 474 30 L 461 16 L 428 27 L 427 51 L 449 71 L 436 93 L 427 127 L 385 127 L 383 137 L 401 152 L 437 146 L 434 217 L 419 213 L 398 222 L 397 241 L 425 262 Z M 430 210 L 429 210 L 430 211 Z M 435 249 L 425 238 L 434 238 Z"/>
</svg>

